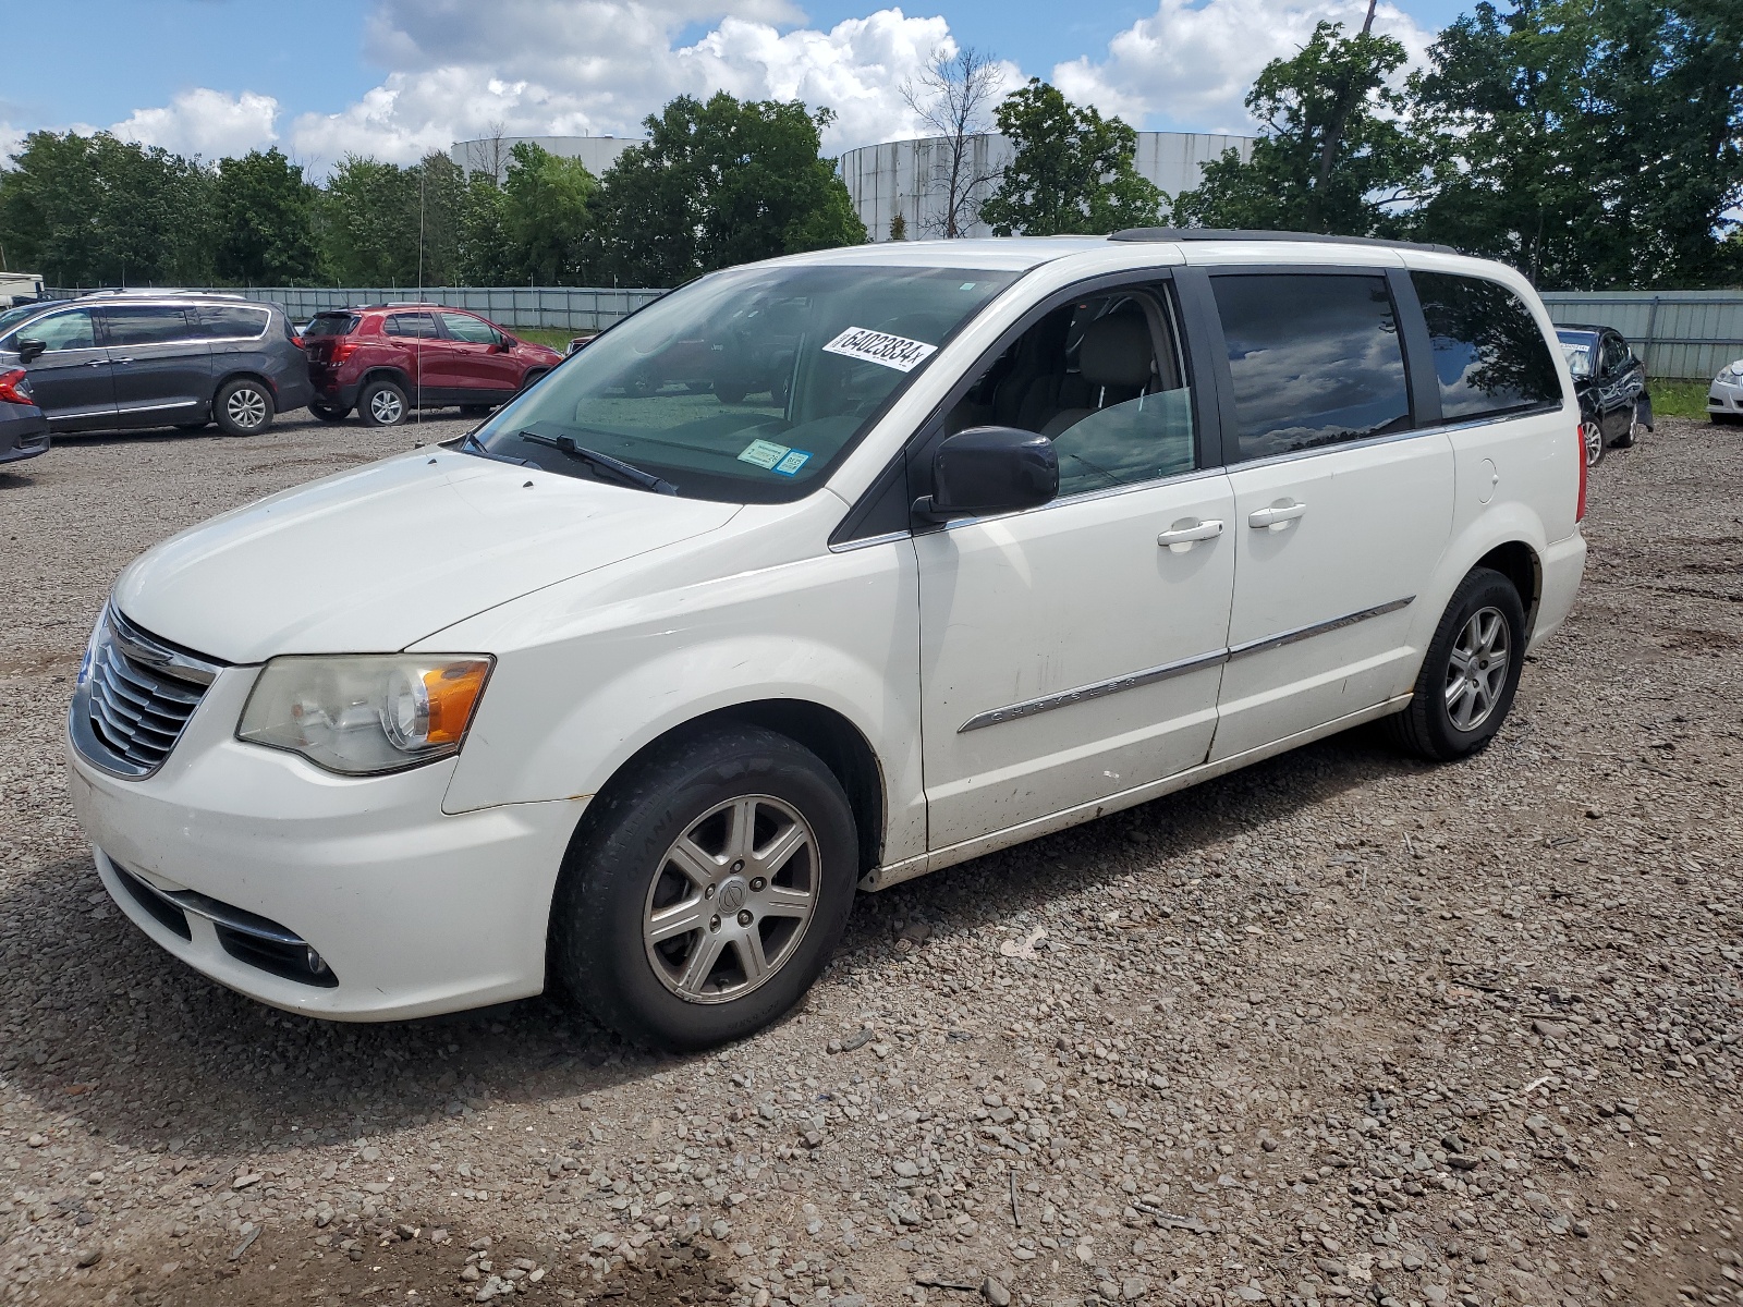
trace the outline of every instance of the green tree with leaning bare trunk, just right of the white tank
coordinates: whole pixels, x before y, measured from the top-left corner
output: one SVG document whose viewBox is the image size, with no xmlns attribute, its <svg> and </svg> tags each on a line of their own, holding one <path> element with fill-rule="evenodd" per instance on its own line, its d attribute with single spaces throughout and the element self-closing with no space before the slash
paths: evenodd
<svg viewBox="0 0 1743 1307">
<path fill-rule="evenodd" d="M 1389 206 L 1414 197 L 1422 167 L 1389 84 L 1405 47 L 1367 26 L 1342 33 L 1319 23 L 1293 58 L 1265 64 L 1246 94 L 1262 124 L 1251 159 L 1225 150 L 1208 164 L 1199 186 L 1175 199 L 1177 223 L 1373 235 Z"/>
</svg>

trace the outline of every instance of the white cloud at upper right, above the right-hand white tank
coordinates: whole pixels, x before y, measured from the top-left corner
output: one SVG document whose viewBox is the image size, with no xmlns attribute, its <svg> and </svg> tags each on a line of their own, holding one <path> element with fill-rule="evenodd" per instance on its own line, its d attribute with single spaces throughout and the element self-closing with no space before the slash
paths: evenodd
<svg viewBox="0 0 1743 1307">
<path fill-rule="evenodd" d="M 1119 113 L 1133 125 L 1168 122 L 1190 131 L 1251 132 L 1241 101 L 1271 59 L 1293 56 L 1321 19 L 1360 31 L 1363 0 L 1161 0 L 1107 45 L 1105 59 L 1072 59 L 1053 70 L 1070 99 Z M 1412 64 L 1431 33 L 1382 3 L 1373 30 L 1396 37 Z"/>
</svg>

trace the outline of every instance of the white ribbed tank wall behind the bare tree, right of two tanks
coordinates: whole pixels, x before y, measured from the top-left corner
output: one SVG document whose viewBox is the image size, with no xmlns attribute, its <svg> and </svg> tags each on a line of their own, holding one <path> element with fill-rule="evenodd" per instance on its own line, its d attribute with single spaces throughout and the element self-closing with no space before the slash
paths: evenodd
<svg viewBox="0 0 1743 1307">
<path fill-rule="evenodd" d="M 852 195 L 859 221 L 873 240 L 889 240 L 889 223 L 901 213 L 910 240 L 943 235 L 943 164 L 946 138 L 917 141 L 885 141 L 849 150 L 840 159 L 842 179 Z M 1173 199 L 1183 190 L 1194 190 L 1204 176 L 1204 164 L 1218 159 L 1224 150 L 1234 150 L 1241 160 L 1251 157 L 1251 136 L 1218 136 L 1213 132 L 1138 132 L 1133 166 L 1138 176 L 1149 178 Z M 999 186 L 999 173 L 1016 157 L 1016 148 L 1006 136 L 987 132 L 971 138 L 969 178 L 988 178 L 976 192 L 974 221 L 964 235 L 992 235 L 980 221 L 980 200 Z"/>
</svg>

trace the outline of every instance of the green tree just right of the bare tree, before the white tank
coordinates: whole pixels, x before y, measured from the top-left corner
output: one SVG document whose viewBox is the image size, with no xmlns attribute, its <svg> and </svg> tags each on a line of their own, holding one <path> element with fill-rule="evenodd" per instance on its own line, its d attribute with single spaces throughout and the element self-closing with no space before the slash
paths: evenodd
<svg viewBox="0 0 1743 1307">
<path fill-rule="evenodd" d="M 1159 221 L 1166 195 L 1138 176 L 1138 134 L 1072 105 L 1039 77 L 1004 98 L 999 131 L 1016 146 L 981 221 L 999 235 L 1103 234 Z"/>
</svg>

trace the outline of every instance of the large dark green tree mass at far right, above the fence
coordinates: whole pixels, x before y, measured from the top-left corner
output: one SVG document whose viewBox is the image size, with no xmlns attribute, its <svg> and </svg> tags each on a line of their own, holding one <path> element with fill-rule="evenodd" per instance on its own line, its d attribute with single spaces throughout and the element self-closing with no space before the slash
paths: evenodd
<svg viewBox="0 0 1743 1307">
<path fill-rule="evenodd" d="M 1408 228 L 1543 288 L 1722 286 L 1743 202 L 1743 7 L 1478 3 L 1429 49 Z"/>
</svg>

